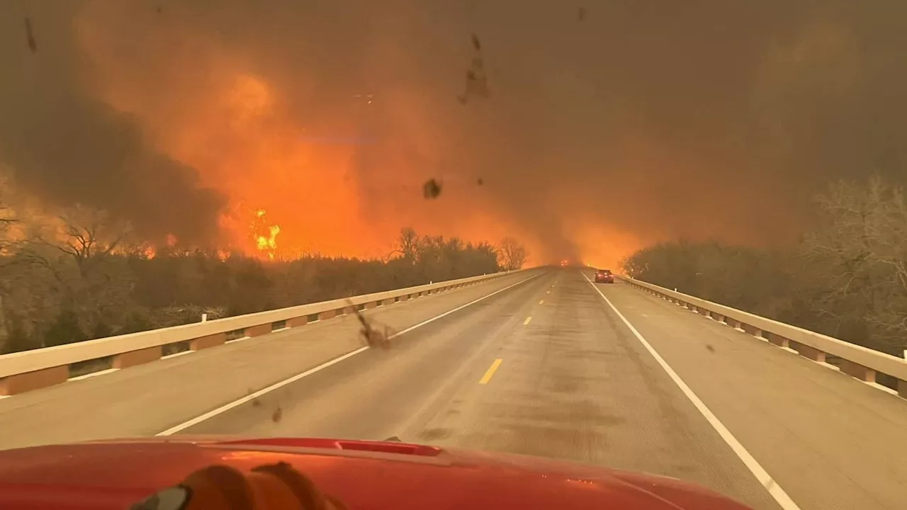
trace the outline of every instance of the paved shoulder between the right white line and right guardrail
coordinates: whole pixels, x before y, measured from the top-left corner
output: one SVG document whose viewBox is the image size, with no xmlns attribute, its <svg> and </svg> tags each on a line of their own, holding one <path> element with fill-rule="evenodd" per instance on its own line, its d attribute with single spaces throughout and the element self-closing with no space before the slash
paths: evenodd
<svg viewBox="0 0 907 510">
<path fill-rule="evenodd" d="M 604 292 L 801 508 L 907 508 L 907 400 L 645 292 Z"/>
</svg>

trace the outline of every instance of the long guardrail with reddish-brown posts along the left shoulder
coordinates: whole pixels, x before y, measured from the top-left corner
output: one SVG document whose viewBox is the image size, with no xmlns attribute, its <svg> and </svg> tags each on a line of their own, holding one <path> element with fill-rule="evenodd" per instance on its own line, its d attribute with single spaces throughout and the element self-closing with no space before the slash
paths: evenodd
<svg viewBox="0 0 907 510">
<path fill-rule="evenodd" d="M 375 292 L 349 299 L 334 299 L 286 309 L 268 310 L 172 328 L 152 329 L 140 333 L 6 354 L 0 356 L 0 396 L 14 395 L 65 382 L 71 376 L 70 366 L 85 361 L 113 358 L 112 368 L 132 367 L 162 358 L 164 348 L 174 344 L 188 342 L 189 350 L 211 348 L 226 343 L 229 333 L 239 333 L 239 336 L 242 337 L 256 337 L 270 333 L 274 329 L 303 326 L 315 316 L 317 316 L 317 320 L 322 320 L 344 315 L 352 311 L 351 307 L 375 308 L 526 270 L 532 269 L 502 271 L 406 289 Z"/>
</svg>

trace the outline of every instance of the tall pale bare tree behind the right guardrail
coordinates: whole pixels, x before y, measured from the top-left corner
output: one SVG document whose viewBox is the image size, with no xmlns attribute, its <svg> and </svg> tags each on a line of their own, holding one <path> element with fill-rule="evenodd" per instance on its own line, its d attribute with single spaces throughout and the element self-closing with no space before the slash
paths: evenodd
<svg viewBox="0 0 907 510">
<path fill-rule="evenodd" d="M 842 181 L 817 202 L 822 226 L 802 244 L 816 275 L 816 311 L 835 330 L 856 329 L 870 337 L 863 338 L 873 344 L 869 347 L 903 348 L 907 203 L 902 190 L 877 177 L 867 186 Z"/>
</svg>

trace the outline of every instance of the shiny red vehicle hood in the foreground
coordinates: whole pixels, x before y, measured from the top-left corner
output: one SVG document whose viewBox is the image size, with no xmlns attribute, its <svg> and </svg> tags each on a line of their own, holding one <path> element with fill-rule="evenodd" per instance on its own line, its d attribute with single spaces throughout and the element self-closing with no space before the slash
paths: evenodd
<svg viewBox="0 0 907 510">
<path fill-rule="evenodd" d="M 545 458 L 317 438 L 141 438 L 0 451 L 0 508 L 129 508 L 212 464 L 288 462 L 350 510 L 746 510 L 673 478 Z"/>
</svg>

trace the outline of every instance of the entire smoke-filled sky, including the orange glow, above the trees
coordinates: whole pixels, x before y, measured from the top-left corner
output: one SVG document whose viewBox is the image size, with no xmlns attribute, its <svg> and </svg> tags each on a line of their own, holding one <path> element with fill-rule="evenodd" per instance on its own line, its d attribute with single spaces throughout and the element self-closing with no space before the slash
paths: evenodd
<svg viewBox="0 0 907 510">
<path fill-rule="evenodd" d="M 902 15 L 604 4 L 0 3 L 0 59 L 22 70 L 0 81 L 0 157 L 155 242 L 191 214 L 180 235 L 222 249 L 381 257 L 411 226 L 610 267 L 678 237 L 783 244 L 829 181 L 907 175 L 888 100 L 907 32 L 884 23 Z M 461 103 L 479 54 L 489 96 Z"/>
</svg>

